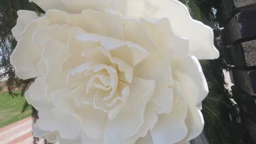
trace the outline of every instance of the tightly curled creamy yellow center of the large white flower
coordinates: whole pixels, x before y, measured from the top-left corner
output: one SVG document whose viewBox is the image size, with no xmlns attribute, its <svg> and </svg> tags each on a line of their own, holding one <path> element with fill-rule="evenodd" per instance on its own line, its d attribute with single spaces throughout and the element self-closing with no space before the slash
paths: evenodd
<svg viewBox="0 0 256 144">
<path fill-rule="evenodd" d="M 90 52 L 86 50 L 84 56 L 92 59 L 72 70 L 79 71 L 83 79 L 83 86 L 79 88 L 84 89 L 84 94 L 83 97 L 74 99 L 78 105 L 89 104 L 95 109 L 103 110 L 108 113 L 108 118 L 112 119 L 122 109 L 129 96 L 133 69 L 121 58 L 112 57 L 109 51 L 102 47 Z"/>
</svg>

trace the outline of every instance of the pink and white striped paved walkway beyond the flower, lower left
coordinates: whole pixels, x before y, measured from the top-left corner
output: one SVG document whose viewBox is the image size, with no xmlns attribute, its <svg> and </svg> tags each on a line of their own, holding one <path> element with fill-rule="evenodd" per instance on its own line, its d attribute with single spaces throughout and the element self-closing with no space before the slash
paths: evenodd
<svg viewBox="0 0 256 144">
<path fill-rule="evenodd" d="M 7 125 L 0 129 L 0 144 L 31 144 L 32 136 L 31 117 Z"/>
</svg>

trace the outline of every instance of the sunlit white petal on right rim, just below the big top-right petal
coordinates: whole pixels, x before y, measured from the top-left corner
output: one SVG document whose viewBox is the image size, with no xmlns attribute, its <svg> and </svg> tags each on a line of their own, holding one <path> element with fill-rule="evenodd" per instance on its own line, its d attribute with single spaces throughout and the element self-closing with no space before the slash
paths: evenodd
<svg viewBox="0 0 256 144">
<path fill-rule="evenodd" d="M 201 109 L 201 102 L 208 94 L 208 86 L 199 61 L 193 56 L 174 59 L 171 62 L 173 79 L 181 84 L 188 103 Z"/>
</svg>

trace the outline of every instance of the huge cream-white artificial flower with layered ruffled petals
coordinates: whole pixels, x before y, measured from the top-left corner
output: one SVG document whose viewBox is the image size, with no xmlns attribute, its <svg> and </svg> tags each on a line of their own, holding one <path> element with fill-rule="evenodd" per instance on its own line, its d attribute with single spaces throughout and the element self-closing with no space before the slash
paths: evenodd
<svg viewBox="0 0 256 144">
<path fill-rule="evenodd" d="M 210 27 L 176 0 L 34 0 L 18 11 L 16 75 L 33 134 L 50 142 L 189 143 L 208 87 L 197 59 L 219 56 Z"/>
</svg>

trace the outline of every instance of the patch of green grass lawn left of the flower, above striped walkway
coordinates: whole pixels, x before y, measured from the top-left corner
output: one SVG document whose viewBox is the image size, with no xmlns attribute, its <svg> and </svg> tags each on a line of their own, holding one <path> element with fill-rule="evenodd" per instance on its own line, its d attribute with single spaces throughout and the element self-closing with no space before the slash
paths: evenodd
<svg viewBox="0 0 256 144">
<path fill-rule="evenodd" d="M 11 97 L 8 92 L 0 93 L 0 128 L 31 116 L 31 110 L 21 113 L 24 97 Z"/>
</svg>

